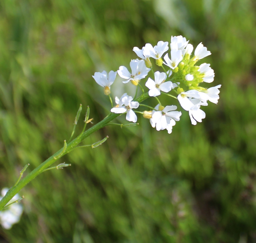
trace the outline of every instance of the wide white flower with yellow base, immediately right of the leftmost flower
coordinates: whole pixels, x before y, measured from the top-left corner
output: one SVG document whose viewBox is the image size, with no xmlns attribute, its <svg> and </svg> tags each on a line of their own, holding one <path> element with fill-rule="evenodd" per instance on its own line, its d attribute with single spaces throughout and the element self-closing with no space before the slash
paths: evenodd
<svg viewBox="0 0 256 243">
<path fill-rule="evenodd" d="M 144 60 L 131 60 L 130 67 L 131 73 L 125 66 L 120 66 L 117 71 L 121 78 L 127 79 L 123 81 L 124 84 L 131 81 L 132 84 L 138 85 L 139 80 L 145 78 L 150 71 L 150 69 L 146 67 Z"/>
</svg>

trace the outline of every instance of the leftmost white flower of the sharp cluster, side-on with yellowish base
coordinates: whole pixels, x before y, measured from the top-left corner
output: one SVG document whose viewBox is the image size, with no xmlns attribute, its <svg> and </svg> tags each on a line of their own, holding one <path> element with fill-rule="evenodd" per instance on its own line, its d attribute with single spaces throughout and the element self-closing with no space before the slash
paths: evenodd
<svg viewBox="0 0 256 243">
<path fill-rule="evenodd" d="M 92 78 L 95 79 L 97 84 L 104 87 L 104 94 L 109 95 L 110 85 L 113 84 L 116 78 L 116 75 L 117 75 L 117 72 L 114 72 L 114 71 L 110 71 L 109 74 L 107 74 L 106 71 L 103 71 L 103 72 L 95 72 Z"/>
</svg>

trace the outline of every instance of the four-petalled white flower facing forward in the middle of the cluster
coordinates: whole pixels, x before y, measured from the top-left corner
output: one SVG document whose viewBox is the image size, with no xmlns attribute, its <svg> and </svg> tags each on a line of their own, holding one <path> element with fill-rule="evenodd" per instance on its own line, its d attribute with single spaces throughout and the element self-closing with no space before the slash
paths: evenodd
<svg viewBox="0 0 256 243">
<path fill-rule="evenodd" d="M 164 91 L 167 93 L 172 89 L 172 82 L 165 82 L 166 78 L 167 76 L 164 72 L 158 71 L 155 72 L 155 81 L 151 78 L 148 78 L 148 81 L 146 82 L 145 86 L 150 89 L 148 92 L 149 96 L 156 97 L 161 94 L 160 91 Z"/>
</svg>

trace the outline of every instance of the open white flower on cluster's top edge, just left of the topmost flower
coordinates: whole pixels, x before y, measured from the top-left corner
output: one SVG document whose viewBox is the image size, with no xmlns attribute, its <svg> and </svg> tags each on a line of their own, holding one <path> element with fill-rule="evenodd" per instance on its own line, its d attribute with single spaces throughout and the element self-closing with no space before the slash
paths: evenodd
<svg viewBox="0 0 256 243">
<path fill-rule="evenodd" d="M 168 51 L 168 42 L 164 42 L 162 40 L 158 41 L 157 46 L 152 46 L 151 44 L 147 43 L 145 47 L 143 47 L 143 55 L 152 57 L 154 59 L 160 59 L 162 55 Z"/>
</svg>

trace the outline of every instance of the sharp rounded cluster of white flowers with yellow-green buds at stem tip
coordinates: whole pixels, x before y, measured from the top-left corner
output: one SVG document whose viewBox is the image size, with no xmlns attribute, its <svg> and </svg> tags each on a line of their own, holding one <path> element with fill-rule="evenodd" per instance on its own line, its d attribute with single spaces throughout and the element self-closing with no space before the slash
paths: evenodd
<svg viewBox="0 0 256 243">
<path fill-rule="evenodd" d="M 201 122 L 205 118 L 205 112 L 200 107 L 207 106 L 207 101 L 215 104 L 218 103 L 219 88 L 221 85 L 211 88 L 200 86 L 200 84 L 212 83 L 214 80 L 214 71 L 210 67 L 210 64 L 203 63 L 199 66 L 196 65 L 197 61 L 211 55 L 211 52 L 200 43 L 195 48 L 194 55 L 191 55 L 193 46 L 192 44 L 188 44 L 188 42 L 181 35 L 172 36 L 170 43 L 171 58 L 169 58 L 169 53 L 164 55 L 169 50 L 167 41 L 158 41 L 154 47 L 149 43 L 145 47 L 142 47 L 142 49 L 134 47 L 133 51 L 141 60 L 131 60 L 131 72 L 125 66 L 120 66 L 117 72 L 110 71 L 109 78 L 107 78 L 105 71 L 102 73 L 96 72 L 92 77 L 99 85 L 104 87 L 104 93 L 110 95 L 110 85 L 114 82 L 116 73 L 125 79 L 123 83 L 131 82 L 138 89 L 138 86 L 141 87 L 139 84 L 140 80 L 144 79 L 152 71 L 154 73 L 154 77 L 152 78 L 154 79 L 148 78 L 145 86 L 149 89 L 148 95 L 150 97 L 156 97 L 158 105 L 152 108 L 151 111 L 137 111 L 137 113 L 141 113 L 143 117 L 150 119 L 152 127 L 158 131 L 166 129 L 168 133 L 171 133 L 175 121 L 179 121 L 180 119 L 181 112 L 174 111 L 177 109 L 176 105 L 167 105 L 164 107 L 160 104 L 157 96 L 165 94 L 177 99 L 180 106 L 189 112 L 191 123 L 196 125 L 197 122 Z M 164 61 L 162 59 L 163 55 Z M 150 58 L 155 59 L 156 65 L 162 67 L 163 72 L 153 71 Z M 167 71 L 164 65 L 168 68 Z M 142 87 L 141 89 L 144 92 Z M 170 92 L 172 92 L 172 95 Z M 117 105 L 111 109 L 111 112 L 118 114 L 126 113 L 127 121 L 136 122 L 136 111 L 134 112 L 132 109 L 137 109 L 140 105 L 143 106 L 143 104 L 132 101 L 133 99 L 136 99 L 136 97 L 132 98 L 126 93 L 120 99 L 116 97 L 115 101 Z"/>
</svg>

